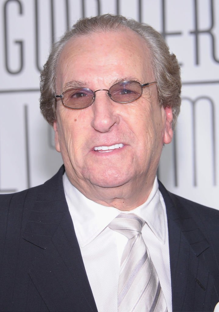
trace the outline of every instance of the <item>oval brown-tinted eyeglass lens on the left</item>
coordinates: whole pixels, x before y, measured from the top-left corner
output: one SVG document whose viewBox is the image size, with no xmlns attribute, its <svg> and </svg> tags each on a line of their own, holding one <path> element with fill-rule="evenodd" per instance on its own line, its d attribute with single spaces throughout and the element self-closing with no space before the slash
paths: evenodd
<svg viewBox="0 0 219 312">
<path fill-rule="evenodd" d="M 63 104 L 69 108 L 85 108 L 94 101 L 94 92 L 88 88 L 73 88 L 63 93 Z"/>
</svg>

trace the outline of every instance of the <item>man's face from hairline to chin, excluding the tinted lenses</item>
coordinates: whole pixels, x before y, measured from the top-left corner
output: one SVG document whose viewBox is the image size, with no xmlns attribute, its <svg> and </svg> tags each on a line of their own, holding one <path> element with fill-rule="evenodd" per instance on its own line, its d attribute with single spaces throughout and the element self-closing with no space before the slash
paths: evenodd
<svg viewBox="0 0 219 312">
<path fill-rule="evenodd" d="M 125 30 L 68 41 L 57 67 L 57 94 L 78 84 L 108 90 L 118 80 L 155 80 L 139 35 Z M 57 101 L 56 149 L 71 183 L 85 195 L 95 187 L 135 191 L 151 186 L 163 143 L 172 138 L 172 111 L 159 106 L 156 84 L 144 87 L 142 96 L 128 104 L 113 102 L 106 92 L 96 92 L 95 102 L 81 110 Z"/>
</svg>

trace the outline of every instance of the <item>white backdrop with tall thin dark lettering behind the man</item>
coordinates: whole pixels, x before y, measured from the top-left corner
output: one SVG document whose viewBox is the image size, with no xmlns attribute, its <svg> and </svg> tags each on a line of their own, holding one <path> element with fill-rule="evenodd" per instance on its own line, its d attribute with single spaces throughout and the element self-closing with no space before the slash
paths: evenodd
<svg viewBox="0 0 219 312">
<path fill-rule="evenodd" d="M 0 193 L 45 182 L 62 163 L 39 110 L 51 42 L 80 17 L 113 13 L 163 34 L 182 70 L 182 109 L 158 175 L 173 193 L 219 209 L 219 1 L 0 0 Z"/>
</svg>

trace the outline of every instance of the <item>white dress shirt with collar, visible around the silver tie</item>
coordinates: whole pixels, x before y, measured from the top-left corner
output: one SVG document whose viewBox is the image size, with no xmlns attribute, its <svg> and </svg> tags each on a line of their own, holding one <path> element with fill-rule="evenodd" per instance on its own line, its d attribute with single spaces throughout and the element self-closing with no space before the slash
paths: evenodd
<svg viewBox="0 0 219 312">
<path fill-rule="evenodd" d="M 66 173 L 63 175 L 63 184 L 97 310 L 116 312 L 120 260 L 128 239 L 123 234 L 111 230 L 108 224 L 121 211 L 100 205 L 85 197 L 70 183 Z M 147 201 L 125 213 L 135 213 L 146 221 L 142 236 L 157 271 L 168 312 L 171 312 L 167 216 L 157 178 Z"/>
</svg>

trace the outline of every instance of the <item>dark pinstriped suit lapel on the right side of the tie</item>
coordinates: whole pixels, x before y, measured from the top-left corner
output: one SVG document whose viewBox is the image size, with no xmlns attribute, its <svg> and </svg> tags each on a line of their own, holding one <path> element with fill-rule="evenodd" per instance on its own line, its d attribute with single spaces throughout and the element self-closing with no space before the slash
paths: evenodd
<svg viewBox="0 0 219 312">
<path fill-rule="evenodd" d="M 209 311 L 214 288 L 204 260 L 209 243 L 190 213 L 159 187 L 168 217 L 173 311 Z"/>
</svg>

